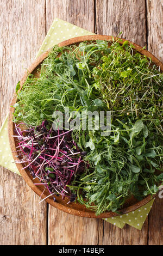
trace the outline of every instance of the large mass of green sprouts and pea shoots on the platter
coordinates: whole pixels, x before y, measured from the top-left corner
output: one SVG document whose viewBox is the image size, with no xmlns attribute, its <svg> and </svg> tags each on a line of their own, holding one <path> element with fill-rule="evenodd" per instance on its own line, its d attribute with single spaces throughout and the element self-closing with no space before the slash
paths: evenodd
<svg viewBox="0 0 163 256">
<path fill-rule="evenodd" d="M 90 169 L 69 187 L 97 215 L 117 211 L 130 196 L 155 194 L 163 180 L 162 82 L 159 68 L 127 41 L 109 48 L 101 40 L 54 46 L 40 78 L 29 75 L 18 94 L 14 121 L 52 123 L 53 112 L 65 107 L 80 114 L 110 111 L 110 136 L 82 126 L 73 131 Z"/>
</svg>

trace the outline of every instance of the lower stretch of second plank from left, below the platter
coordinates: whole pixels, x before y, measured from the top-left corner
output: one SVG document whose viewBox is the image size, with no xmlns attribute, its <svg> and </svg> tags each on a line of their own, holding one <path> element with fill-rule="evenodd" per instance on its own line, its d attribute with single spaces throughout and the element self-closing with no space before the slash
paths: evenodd
<svg viewBox="0 0 163 256">
<path fill-rule="evenodd" d="M 65 214 L 50 205 L 48 230 L 48 245 L 102 245 L 102 220 Z"/>
</svg>

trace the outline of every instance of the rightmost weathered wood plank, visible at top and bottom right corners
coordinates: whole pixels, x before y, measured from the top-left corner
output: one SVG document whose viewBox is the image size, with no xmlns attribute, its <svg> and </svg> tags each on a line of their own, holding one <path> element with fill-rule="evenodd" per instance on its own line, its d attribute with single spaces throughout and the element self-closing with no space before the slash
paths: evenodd
<svg viewBox="0 0 163 256">
<path fill-rule="evenodd" d="M 163 62 L 163 1 L 147 0 L 148 51 Z M 156 198 L 148 217 L 148 244 L 163 245 L 163 204 Z"/>
</svg>

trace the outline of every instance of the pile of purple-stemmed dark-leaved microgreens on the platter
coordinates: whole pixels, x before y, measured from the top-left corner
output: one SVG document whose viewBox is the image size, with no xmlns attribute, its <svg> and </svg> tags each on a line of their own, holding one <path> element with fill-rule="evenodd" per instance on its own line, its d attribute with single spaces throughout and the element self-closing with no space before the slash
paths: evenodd
<svg viewBox="0 0 163 256">
<path fill-rule="evenodd" d="M 22 123 L 21 123 L 22 125 Z M 24 125 L 24 124 L 23 124 Z M 49 129 L 47 121 L 40 126 L 29 127 L 21 130 L 20 125 L 15 125 L 15 137 L 17 137 L 17 153 L 24 168 L 29 168 L 33 178 L 39 179 L 35 185 L 43 185 L 49 195 L 61 195 L 75 200 L 67 185 L 71 184 L 76 173 L 83 173 L 87 168 L 82 160 L 82 154 L 69 131 L 54 131 Z"/>
</svg>

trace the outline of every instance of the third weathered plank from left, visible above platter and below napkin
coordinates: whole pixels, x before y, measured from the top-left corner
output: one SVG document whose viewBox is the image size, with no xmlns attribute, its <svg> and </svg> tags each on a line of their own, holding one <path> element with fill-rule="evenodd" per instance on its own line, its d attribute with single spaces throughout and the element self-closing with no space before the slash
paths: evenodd
<svg viewBox="0 0 163 256">
<path fill-rule="evenodd" d="M 146 45 L 146 8 L 144 0 L 96 0 L 96 33 L 118 35 L 141 46 Z M 126 225 L 117 228 L 104 221 L 104 245 L 146 245 L 148 220 L 141 231 Z M 133 235 L 134 234 L 134 235 Z"/>
</svg>

